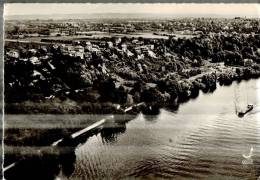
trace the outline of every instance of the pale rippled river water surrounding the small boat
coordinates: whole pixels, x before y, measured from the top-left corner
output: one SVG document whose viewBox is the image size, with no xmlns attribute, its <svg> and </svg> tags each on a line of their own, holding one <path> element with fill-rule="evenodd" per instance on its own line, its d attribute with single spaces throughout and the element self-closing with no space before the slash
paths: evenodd
<svg viewBox="0 0 260 180">
<path fill-rule="evenodd" d="M 175 112 L 139 114 L 109 138 L 92 136 L 75 149 L 70 179 L 257 179 L 259 89 L 260 79 L 219 86 Z M 256 107 L 239 118 L 234 102 L 240 108 L 247 102 Z M 251 157 L 243 157 L 251 149 Z"/>
</svg>

